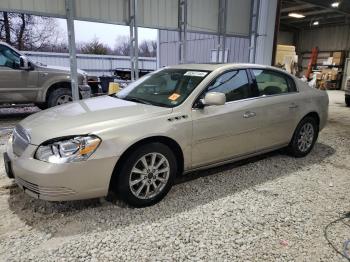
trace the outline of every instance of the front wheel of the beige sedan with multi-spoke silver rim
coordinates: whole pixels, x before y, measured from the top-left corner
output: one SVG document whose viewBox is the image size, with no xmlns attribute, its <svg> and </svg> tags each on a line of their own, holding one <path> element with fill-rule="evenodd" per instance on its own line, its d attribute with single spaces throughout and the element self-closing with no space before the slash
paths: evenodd
<svg viewBox="0 0 350 262">
<path fill-rule="evenodd" d="M 143 145 L 123 163 L 116 174 L 115 189 L 131 206 L 150 206 L 166 196 L 176 172 L 176 158 L 169 147 L 161 143 Z"/>
</svg>

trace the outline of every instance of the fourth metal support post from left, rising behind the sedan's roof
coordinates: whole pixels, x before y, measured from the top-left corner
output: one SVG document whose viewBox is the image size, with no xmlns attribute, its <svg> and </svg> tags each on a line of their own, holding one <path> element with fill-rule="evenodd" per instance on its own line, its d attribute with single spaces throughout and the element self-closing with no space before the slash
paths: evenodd
<svg viewBox="0 0 350 262">
<path fill-rule="evenodd" d="M 226 49 L 226 21 L 227 21 L 227 0 L 219 0 L 218 18 L 218 46 L 216 51 L 216 62 L 225 63 Z M 221 57 L 220 57 L 220 51 Z"/>
</svg>

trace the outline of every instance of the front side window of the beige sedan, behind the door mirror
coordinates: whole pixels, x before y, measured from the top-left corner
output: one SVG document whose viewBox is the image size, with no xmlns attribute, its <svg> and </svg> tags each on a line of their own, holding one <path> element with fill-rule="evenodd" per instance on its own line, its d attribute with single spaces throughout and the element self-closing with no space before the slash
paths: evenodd
<svg viewBox="0 0 350 262">
<path fill-rule="evenodd" d="M 220 92 L 226 95 L 226 102 L 250 97 L 250 85 L 245 70 L 234 70 L 220 75 L 208 87 L 207 92 Z"/>
</svg>

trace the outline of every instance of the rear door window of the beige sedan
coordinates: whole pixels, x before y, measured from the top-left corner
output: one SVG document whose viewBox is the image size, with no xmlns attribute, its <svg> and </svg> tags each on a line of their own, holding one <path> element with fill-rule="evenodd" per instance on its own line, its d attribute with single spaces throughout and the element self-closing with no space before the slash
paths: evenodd
<svg viewBox="0 0 350 262">
<path fill-rule="evenodd" d="M 253 69 L 252 71 L 258 85 L 259 96 L 296 91 L 294 81 L 281 73 L 261 69 Z"/>
</svg>

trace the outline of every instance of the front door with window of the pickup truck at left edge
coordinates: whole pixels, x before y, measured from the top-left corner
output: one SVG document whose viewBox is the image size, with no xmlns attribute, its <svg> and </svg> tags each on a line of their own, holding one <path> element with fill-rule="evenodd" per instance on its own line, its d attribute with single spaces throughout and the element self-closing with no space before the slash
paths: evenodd
<svg viewBox="0 0 350 262">
<path fill-rule="evenodd" d="M 37 72 L 20 70 L 20 54 L 0 44 L 0 102 L 33 102 Z"/>
</svg>

